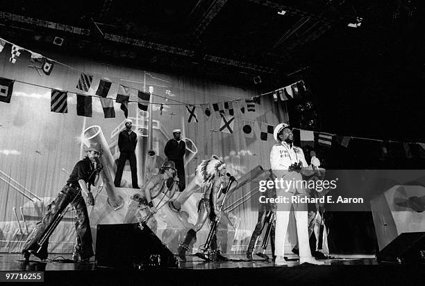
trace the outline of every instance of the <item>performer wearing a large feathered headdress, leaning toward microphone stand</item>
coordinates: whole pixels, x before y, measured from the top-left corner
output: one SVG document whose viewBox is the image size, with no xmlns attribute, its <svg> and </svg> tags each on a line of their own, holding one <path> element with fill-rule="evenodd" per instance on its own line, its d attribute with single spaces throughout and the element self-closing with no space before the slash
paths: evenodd
<svg viewBox="0 0 425 286">
<path fill-rule="evenodd" d="M 186 234 L 185 240 L 178 247 L 178 256 L 186 260 L 186 251 L 197 240 L 197 231 L 205 224 L 207 217 L 211 222 L 217 215 L 217 197 L 223 188 L 223 176 L 226 175 L 226 164 L 213 155 L 211 159 L 203 160 L 198 166 L 195 183 L 203 188 L 203 197 L 198 203 L 198 220 L 193 229 Z M 214 236 L 211 249 L 217 249 L 217 238 Z"/>
</svg>

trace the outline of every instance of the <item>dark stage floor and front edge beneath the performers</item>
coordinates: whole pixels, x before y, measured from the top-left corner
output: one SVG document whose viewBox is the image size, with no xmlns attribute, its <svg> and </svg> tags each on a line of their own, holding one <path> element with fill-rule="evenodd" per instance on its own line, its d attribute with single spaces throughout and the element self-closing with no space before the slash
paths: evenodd
<svg viewBox="0 0 425 286">
<path fill-rule="evenodd" d="M 276 266 L 264 260 L 245 260 L 244 256 L 226 256 L 235 261 L 204 262 L 188 256 L 179 268 L 126 270 L 96 267 L 89 263 L 59 262 L 69 254 L 51 254 L 47 262 L 0 253 L 1 271 L 44 271 L 44 285 L 424 285 L 425 265 L 378 264 L 374 256 L 333 255 L 326 265 L 299 265 L 296 256 L 288 256 L 288 266 Z M 55 261 L 53 261 L 55 260 Z M 236 261 L 240 260 L 240 261 Z"/>
</svg>

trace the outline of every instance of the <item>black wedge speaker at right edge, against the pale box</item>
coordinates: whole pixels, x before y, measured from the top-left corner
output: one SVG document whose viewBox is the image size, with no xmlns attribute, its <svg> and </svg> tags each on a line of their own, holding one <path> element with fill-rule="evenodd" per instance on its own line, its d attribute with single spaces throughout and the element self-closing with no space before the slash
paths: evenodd
<svg viewBox="0 0 425 286">
<path fill-rule="evenodd" d="M 376 258 L 378 262 L 425 262 L 425 232 L 401 233 Z"/>
</svg>

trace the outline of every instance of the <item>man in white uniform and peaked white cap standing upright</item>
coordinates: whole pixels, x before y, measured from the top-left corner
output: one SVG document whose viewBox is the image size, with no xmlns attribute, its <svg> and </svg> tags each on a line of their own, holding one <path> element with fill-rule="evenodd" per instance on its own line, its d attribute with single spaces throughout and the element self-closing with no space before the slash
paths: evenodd
<svg viewBox="0 0 425 286">
<path fill-rule="evenodd" d="M 321 265 L 311 255 L 310 244 L 308 243 L 308 213 L 307 204 L 292 202 L 292 198 L 306 197 L 305 184 L 302 183 L 303 175 L 308 174 L 308 164 L 304 157 L 303 150 L 293 145 L 294 135 L 288 124 L 281 123 L 274 129 L 274 140 L 278 144 L 274 145 L 270 152 L 270 165 L 272 172 L 276 175 L 278 186 L 276 186 L 277 197 L 288 197 L 288 203 L 277 204 L 276 211 L 276 265 L 286 265 L 284 259 L 284 245 L 290 211 L 294 209 L 295 220 L 297 221 L 297 237 L 299 242 L 299 262 Z M 283 179 L 283 186 L 281 185 Z M 283 188 L 282 188 L 283 187 Z"/>
</svg>

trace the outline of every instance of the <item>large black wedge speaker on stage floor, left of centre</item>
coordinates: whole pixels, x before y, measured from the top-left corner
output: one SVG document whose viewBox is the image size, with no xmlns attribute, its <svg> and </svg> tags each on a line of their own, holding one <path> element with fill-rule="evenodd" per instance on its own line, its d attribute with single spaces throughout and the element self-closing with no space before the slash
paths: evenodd
<svg viewBox="0 0 425 286">
<path fill-rule="evenodd" d="M 140 224 L 98 224 L 96 265 L 117 268 L 178 267 L 178 259 Z"/>
</svg>

